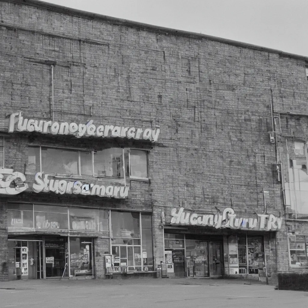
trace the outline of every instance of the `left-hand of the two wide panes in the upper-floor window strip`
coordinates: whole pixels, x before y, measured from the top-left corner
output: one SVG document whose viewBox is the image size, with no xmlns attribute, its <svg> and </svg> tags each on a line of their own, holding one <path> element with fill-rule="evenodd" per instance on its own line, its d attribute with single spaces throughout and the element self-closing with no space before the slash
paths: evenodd
<svg viewBox="0 0 308 308">
<path fill-rule="evenodd" d="M 78 174 L 78 152 L 42 148 L 42 171 L 45 173 Z"/>
</svg>

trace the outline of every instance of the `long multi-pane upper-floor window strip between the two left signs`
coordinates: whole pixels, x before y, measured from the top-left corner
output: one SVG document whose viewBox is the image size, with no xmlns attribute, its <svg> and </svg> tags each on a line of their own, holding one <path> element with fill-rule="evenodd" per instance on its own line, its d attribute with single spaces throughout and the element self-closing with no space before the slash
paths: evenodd
<svg viewBox="0 0 308 308">
<path fill-rule="evenodd" d="M 1 150 L 1 147 L 0 147 Z M 1 153 L 0 153 L 1 155 Z M 148 154 L 145 150 L 109 148 L 102 151 L 78 151 L 29 146 L 29 173 L 85 175 L 148 179 Z"/>
</svg>

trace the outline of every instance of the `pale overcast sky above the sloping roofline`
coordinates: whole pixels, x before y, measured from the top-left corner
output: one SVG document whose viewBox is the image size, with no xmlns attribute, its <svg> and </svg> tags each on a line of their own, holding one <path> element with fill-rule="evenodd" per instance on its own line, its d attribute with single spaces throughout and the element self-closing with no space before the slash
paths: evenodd
<svg viewBox="0 0 308 308">
<path fill-rule="evenodd" d="M 308 0 L 49 0 L 45 2 L 308 56 Z"/>
</svg>

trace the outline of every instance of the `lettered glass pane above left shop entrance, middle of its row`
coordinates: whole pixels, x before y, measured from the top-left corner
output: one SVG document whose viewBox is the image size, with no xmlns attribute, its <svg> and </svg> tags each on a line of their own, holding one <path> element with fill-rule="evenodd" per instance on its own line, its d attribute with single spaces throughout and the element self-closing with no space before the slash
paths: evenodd
<svg viewBox="0 0 308 308">
<path fill-rule="evenodd" d="M 35 227 L 44 229 L 68 229 L 67 214 L 34 212 Z"/>
</svg>

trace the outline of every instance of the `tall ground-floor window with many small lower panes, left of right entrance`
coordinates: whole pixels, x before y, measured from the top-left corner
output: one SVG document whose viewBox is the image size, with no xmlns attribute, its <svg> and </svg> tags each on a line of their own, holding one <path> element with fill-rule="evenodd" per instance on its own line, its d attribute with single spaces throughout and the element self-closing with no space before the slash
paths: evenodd
<svg viewBox="0 0 308 308">
<path fill-rule="evenodd" d="M 111 230 L 114 271 L 153 270 L 151 214 L 111 211 Z"/>
</svg>

